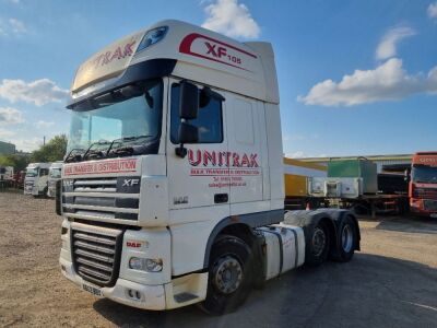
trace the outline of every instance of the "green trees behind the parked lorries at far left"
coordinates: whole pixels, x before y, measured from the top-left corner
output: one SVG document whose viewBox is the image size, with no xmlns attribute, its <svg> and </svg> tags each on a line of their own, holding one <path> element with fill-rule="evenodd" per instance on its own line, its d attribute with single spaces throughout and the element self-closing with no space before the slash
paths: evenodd
<svg viewBox="0 0 437 328">
<path fill-rule="evenodd" d="M 67 151 L 67 136 L 59 134 L 50 139 L 31 154 L 0 154 L 0 166 L 13 166 L 15 172 L 23 171 L 28 163 L 51 163 L 62 161 Z"/>
</svg>

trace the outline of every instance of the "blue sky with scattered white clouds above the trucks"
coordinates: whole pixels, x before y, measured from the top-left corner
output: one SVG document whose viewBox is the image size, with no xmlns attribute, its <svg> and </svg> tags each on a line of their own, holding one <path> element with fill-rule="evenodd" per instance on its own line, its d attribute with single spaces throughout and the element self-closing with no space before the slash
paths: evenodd
<svg viewBox="0 0 437 328">
<path fill-rule="evenodd" d="M 273 44 L 284 152 L 437 150 L 437 1 L 0 0 L 0 140 L 68 132 L 79 65 L 163 19 Z"/>
</svg>

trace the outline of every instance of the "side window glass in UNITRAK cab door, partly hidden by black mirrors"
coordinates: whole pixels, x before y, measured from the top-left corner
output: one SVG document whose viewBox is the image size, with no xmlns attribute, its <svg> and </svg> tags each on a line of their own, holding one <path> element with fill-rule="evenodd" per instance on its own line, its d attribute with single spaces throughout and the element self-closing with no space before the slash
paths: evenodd
<svg viewBox="0 0 437 328">
<path fill-rule="evenodd" d="M 172 85 L 170 107 L 170 141 L 178 144 L 179 130 L 179 84 Z M 212 98 L 210 103 L 199 108 L 198 118 L 191 119 L 190 125 L 198 127 L 198 143 L 221 143 L 223 141 L 222 101 Z"/>
</svg>

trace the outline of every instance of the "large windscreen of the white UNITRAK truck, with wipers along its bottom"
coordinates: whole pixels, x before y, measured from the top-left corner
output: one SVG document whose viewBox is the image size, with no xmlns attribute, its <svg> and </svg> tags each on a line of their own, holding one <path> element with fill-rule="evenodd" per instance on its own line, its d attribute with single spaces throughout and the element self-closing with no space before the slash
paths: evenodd
<svg viewBox="0 0 437 328">
<path fill-rule="evenodd" d="M 126 150 L 126 144 L 130 147 L 129 152 L 113 154 L 157 153 L 158 147 L 144 144 L 158 143 L 162 106 L 162 80 L 127 85 L 76 105 L 72 110 L 67 154 L 74 153 L 79 160 L 91 159 L 96 153 L 103 157 L 109 149 L 125 147 Z M 132 150 L 133 145 L 141 144 L 139 151 Z"/>
</svg>

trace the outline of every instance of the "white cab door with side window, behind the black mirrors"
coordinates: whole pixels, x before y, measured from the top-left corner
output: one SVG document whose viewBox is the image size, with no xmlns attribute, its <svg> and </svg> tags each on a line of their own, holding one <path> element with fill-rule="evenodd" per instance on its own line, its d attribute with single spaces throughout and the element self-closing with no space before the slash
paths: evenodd
<svg viewBox="0 0 437 328">
<path fill-rule="evenodd" d="M 201 84 L 197 84 L 197 86 L 199 90 L 204 87 Z M 199 108 L 198 117 L 188 121 L 198 128 L 199 141 L 184 144 L 187 150 L 185 157 L 176 154 L 176 149 L 180 147 L 178 141 L 179 101 L 180 81 L 169 79 L 169 119 L 167 124 L 169 209 L 214 207 L 216 210 L 211 211 L 211 215 L 218 215 L 223 219 L 229 212 L 226 101 L 211 98 L 206 106 Z M 218 208 L 220 211 L 217 211 Z M 178 216 L 194 220 L 189 214 Z"/>
</svg>

